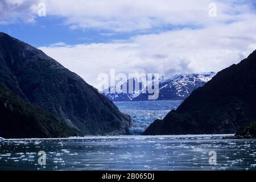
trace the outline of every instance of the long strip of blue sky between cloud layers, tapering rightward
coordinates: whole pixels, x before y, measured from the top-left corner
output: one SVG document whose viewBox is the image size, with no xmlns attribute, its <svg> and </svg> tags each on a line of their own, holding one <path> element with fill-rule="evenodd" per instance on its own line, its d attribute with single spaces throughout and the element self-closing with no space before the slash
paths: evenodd
<svg viewBox="0 0 256 182">
<path fill-rule="evenodd" d="M 167 24 L 145 30 L 113 32 L 98 28 L 72 30 L 69 26 L 65 26 L 63 22 L 65 22 L 65 18 L 56 16 L 35 16 L 34 23 L 15 22 L 11 24 L 0 24 L 0 30 L 32 46 L 42 47 L 58 42 L 64 42 L 69 45 L 109 43 L 115 40 L 127 40 L 137 35 L 159 34 L 164 31 L 199 27 L 193 24 Z"/>
</svg>

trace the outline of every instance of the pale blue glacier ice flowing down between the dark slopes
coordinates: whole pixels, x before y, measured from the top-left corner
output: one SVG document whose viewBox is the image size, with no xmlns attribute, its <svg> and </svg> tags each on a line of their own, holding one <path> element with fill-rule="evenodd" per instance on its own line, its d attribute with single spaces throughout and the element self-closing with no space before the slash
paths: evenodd
<svg viewBox="0 0 256 182">
<path fill-rule="evenodd" d="M 163 119 L 172 109 L 176 109 L 182 101 L 133 101 L 114 102 L 123 113 L 131 116 L 133 126 L 131 134 L 141 134 L 155 119 Z"/>
</svg>

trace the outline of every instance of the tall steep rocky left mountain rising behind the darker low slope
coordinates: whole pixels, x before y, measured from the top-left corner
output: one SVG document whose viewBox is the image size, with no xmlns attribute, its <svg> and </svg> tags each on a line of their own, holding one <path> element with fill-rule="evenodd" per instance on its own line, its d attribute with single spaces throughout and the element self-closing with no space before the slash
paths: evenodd
<svg viewBox="0 0 256 182">
<path fill-rule="evenodd" d="M 82 135 L 127 134 L 130 117 L 45 53 L 0 33 L 0 84 Z"/>
</svg>

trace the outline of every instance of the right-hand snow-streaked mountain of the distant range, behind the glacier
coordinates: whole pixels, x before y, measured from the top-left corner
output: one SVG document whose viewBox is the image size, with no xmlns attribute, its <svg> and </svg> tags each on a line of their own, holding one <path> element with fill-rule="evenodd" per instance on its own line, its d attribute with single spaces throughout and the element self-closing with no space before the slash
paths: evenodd
<svg viewBox="0 0 256 182">
<path fill-rule="evenodd" d="M 174 80 L 163 80 L 159 82 L 158 100 L 184 100 L 193 90 L 204 86 L 216 73 L 183 74 Z M 149 85 L 151 86 L 151 85 Z M 134 98 L 134 101 L 148 100 L 148 93 L 142 93 Z"/>
</svg>

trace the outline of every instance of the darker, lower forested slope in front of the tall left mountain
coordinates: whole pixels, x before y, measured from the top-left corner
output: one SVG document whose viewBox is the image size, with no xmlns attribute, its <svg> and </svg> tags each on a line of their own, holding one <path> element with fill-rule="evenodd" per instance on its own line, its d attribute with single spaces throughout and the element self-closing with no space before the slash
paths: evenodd
<svg viewBox="0 0 256 182">
<path fill-rule="evenodd" d="M 80 135 L 53 114 L 24 101 L 0 85 L 0 136 L 4 138 L 56 138 Z M 0 138 L 1 140 L 1 138 Z"/>
</svg>

